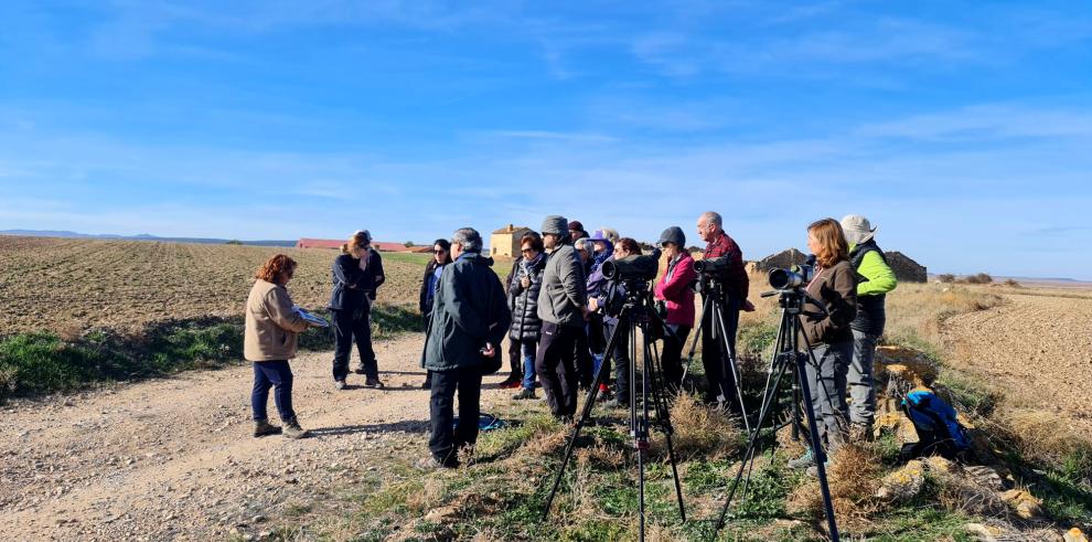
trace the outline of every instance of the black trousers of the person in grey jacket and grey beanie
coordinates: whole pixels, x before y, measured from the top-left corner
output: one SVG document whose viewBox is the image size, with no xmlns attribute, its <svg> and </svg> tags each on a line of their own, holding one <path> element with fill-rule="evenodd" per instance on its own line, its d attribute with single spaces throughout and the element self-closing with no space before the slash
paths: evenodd
<svg viewBox="0 0 1092 542">
<path fill-rule="evenodd" d="M 584 333 L 584 328 L 543 322 L 535 371 L 546 393 L 549 412 L 555 416 L 576 414 L 578 389 L 574 358 L 576 339 L 580 333 Z"/>
</svg>

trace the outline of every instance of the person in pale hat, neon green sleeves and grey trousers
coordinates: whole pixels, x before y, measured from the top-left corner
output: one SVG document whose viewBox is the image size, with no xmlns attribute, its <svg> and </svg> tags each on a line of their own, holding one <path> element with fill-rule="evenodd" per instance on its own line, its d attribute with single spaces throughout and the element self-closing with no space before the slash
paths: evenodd
<svg viewBox="0 0 1092 542">
<path fill-rule="evenodd" d="M 849 404 L 849 439 L 869 440 L 876 416 L 876 390 L 872 386 L 872 360 L 876 342 L 887 322 L 885 309 L 888 291 L 898 286 L 887 255 L 876 244 L 876 229 L 868 219 L 848 214 L 842 219 L 842 230 L 849 243 L 849 265 L 867 280 L 857 285 L 857 317 L 853 330 L 853 360 L 846 384 L 853 402 Z"/>
</svg>

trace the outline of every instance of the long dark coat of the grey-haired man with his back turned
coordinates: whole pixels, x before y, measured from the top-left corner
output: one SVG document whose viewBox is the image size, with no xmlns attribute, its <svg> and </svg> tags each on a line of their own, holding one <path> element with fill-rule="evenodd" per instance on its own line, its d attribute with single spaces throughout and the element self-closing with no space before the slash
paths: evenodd
<svg viewBox="0 0 1092 542">
<path fill-rule="evenodd" d="M 424 368 L 449 371 L 478 366 L 486 342 L 501 355 L 512 313 L 491 265 L 492 258 L 463 253 L 443 267 L 425 339 Z"/>
</svg>

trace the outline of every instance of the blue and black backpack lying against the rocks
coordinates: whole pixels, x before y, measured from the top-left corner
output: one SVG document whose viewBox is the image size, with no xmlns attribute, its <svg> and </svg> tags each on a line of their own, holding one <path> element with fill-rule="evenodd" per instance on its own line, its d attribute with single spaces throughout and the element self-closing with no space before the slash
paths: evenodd
<svg viewBox="0 0 1092 542">
<path fill-rule="evenodd" d="M 971 454 L 971 439 L 956 419 L 955 408 L 932 391 L 911 391 L 902 398 L 902 410 L 920 437 L 903 448 L 904 458 L 940 454 L 949 459 L 964 459 Z"/>
</svg>

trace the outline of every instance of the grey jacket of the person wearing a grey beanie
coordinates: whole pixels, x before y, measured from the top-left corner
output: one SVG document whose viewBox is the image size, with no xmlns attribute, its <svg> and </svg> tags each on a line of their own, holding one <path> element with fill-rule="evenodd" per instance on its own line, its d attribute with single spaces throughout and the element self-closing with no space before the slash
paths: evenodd
<svg viewBox="0 0 1092 542">
<path fill-rule="evenodd" d="M 576 248 L 564 244 L 546 257 L 542 290 L 538 293 L 538 318 L 567 327 L 584 327 L 588 302 L 584 266 Z"/>
</svg>

